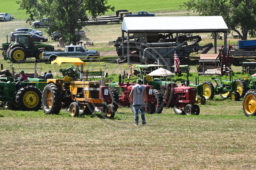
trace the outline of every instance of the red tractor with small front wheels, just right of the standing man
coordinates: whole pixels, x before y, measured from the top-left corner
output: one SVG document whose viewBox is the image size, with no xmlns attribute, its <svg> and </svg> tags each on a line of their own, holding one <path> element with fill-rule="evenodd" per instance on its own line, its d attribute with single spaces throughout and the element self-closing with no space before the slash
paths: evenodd
<svg viewBox="0 0 256 170">
<path fill-rule="evenodd" d="M 165 89 L 164 107 L 172 107 L 178 115 L 199 115 L 200 107 L 196 103 L 196 88 L 178 86 L 169 83 L 162 86 Z"/>
</svg>

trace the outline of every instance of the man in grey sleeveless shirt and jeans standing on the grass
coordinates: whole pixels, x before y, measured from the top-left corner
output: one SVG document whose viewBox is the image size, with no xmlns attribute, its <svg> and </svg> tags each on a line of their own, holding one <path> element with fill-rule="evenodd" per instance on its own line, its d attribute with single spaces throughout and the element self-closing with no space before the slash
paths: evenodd
<svg viewBox="0 0 256 170">
<path fill-rule="evenodd" d="M 133 96 L 133 101 L 132 101 Z M 141 116 L 141 124 L 145 125 L 145 112 L 144 112 L 144 98 L 146 99 L 146 108 L 147 108 L 147 92 L 146 88 L 141 85 L 141 79 L 137 79 L 137 85 L 132 87 L 132 91 L 129 95 L 130 103 L 132 104 L 134 114 L 135 114 L 135 125 L 139 124 L 139 111 Z"/>
</svg>

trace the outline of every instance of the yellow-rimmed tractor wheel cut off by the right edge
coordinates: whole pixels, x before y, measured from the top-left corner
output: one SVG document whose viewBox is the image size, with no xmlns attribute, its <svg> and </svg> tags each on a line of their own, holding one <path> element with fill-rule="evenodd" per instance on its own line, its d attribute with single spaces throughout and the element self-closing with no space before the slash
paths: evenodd
<svg viewBox="0 0 256 170">
<path fill-rule="evenodd" d="M 243 100 L 245 116 L 256 116 L 256 90 L 249 90 Z"/>
</svg>

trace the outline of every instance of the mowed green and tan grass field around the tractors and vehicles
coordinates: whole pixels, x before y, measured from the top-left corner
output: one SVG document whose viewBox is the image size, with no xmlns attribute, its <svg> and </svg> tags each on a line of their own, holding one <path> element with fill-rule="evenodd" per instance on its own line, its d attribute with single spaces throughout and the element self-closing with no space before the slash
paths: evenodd
<svg viewBox="0 0 256 170">
<path fill-rule="evenodd" d="M 145 10 L 156 15 L 159 11 L 162 16 L 185 15 L 178 8 L 172 10 L 179 2 L 109 0 L 116 10 Z M 25 23 L 24 11 L 12 8 L 14 0 L 4 3 L 11 4 L 1 5 L 0 12 L 11 7 L 7 12 L 17 19 L 0 22 L 0 42 L 5 42 L 6 35 L 15 28 L 31 27 Z M 16 16 L 15 12 L 23 13 Z M 120 72 L 113 63 L 117 57 L 112 53 L 115 48 L 108 44 L 120 36 L 120 26 L 87 27 L 87 37 L 95 44 L 87 48 L 113 54 L 103 57 L 110 75 Z M 203 44 L 212 42 L 207 34 L 202 37 Z M 219 44 L 222 42 L 218 40 Z M 57 48 L 56 42 L 47 43 Z M 11 63 L 3 59 L 0 62 L 9 69 Z M 34 67 L 34 63 L 23 66 Z M 49 63 L 38 63 L 38 67 L 56 74 L 60 69 Z M 125 63 L 120 67 L 129 71 Z M 15 68 L 19 65 L 15 64 Z M 241 71 L 241 67 L 232 68 Z M 191 73 L 196 74 L 195 63 Z M 194 78 L 190 80 L 193 82 Z M 205 80 L 210 77 L 200 77 L 200 82 Z M 242 99 L 231 101 L 215 96 L 200 105 L 200 115 L 176 115 L 173 109 L 165 108 L 161 114 L 146 115 L 146 120 L 146 126 L 133 126 L 134 115 L 128 107 L 119 108 L 113 119 L 98 112 L 73 118 L 65 109 L 59 115 L 46 115 L 42 110 L 0 108 L 0 169 L 256 169 L 256 118 L 244 115 Z"/>
</svg>

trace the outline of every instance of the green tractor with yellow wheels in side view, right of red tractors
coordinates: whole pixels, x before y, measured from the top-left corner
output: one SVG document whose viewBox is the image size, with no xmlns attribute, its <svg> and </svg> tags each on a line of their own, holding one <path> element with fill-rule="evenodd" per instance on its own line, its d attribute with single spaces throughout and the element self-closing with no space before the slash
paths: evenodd
<svg viewBox="0 0 256 170">
<path fill-rule="evenodd" d="M 214 95 L 220 95 L 222 99 L 227 99 L 228 97 L 231 100 L 240 100 L 240 93 L 237 91 L 237 81 L 232 80 L 232 76 L 230 73 L 230 80 L 222 80 L 220 76 L 216 76 L 216 78 L 211 78 L 212 81 L 215 81 L 216 86 L 211 83 L 211 81 L 203 82 L 203 96 L 205 96 L 206 100 L 213 99 Z M 220 84 L 218 81 L 220 80 Z M 241 84 L 244 87 L 244 84 Z"/>
</svg>

